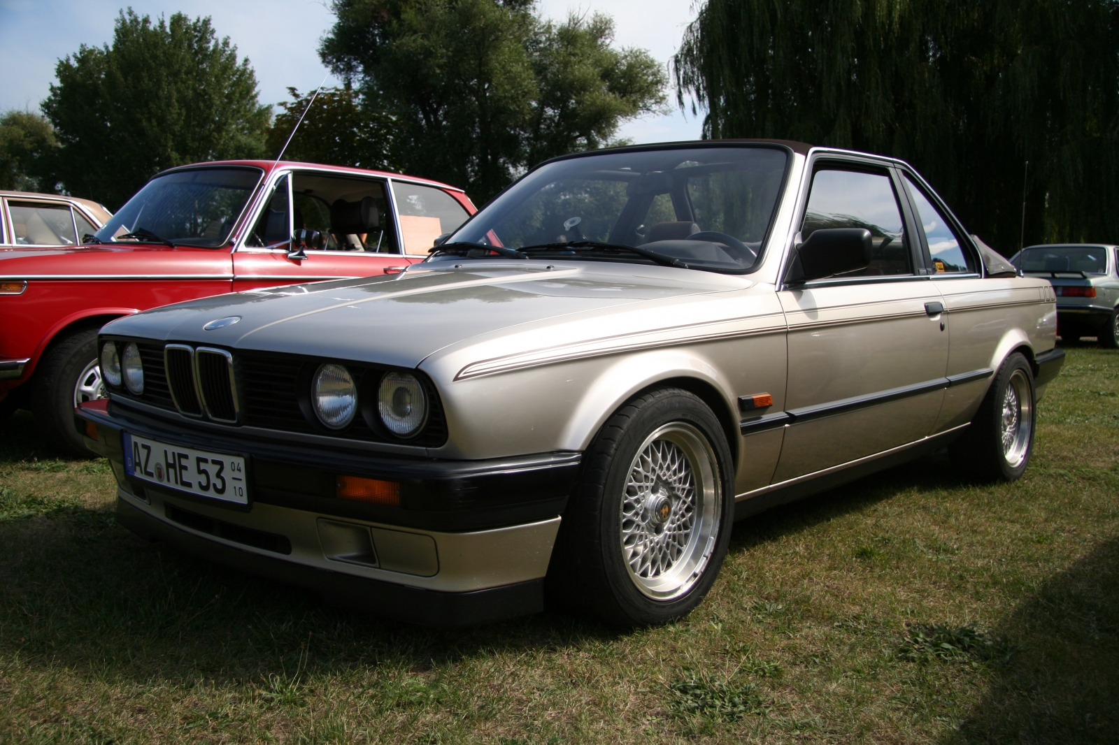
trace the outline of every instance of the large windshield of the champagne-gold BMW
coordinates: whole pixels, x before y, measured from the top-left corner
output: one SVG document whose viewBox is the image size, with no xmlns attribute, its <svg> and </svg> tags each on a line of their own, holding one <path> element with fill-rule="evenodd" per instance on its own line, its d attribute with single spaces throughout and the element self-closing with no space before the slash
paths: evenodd
<svg viewBox="0 0 1119 745">
<path fill-rule="evenodd" d="M 509 257 L 517 251 L 528 258 L 742 273 L 759 258 L 787 163 L 783 149 L 765 147 L 646 150 L 556 161 L 515 183 L 429 261 Z M 480 247 L 464 252 L 463 244 Z M 487 246 L 505 251 L 482 248 Z"/>
</svg>

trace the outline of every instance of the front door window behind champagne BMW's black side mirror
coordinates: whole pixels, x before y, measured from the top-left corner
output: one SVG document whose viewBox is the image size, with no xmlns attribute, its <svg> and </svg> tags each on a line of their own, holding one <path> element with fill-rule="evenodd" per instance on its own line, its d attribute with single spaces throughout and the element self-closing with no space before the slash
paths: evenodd
<svg viewBox="0 0 1119 745">
<path fill-rule="evenodd" d="M 885 173 L 828 168 L 812 176 L 801 238 L 807 241 L 821 228 L 844 227 L 866 228 L 874 246 L 871 265 L 846 276 L 913 273 L 905 223 Z"/>
</svg>

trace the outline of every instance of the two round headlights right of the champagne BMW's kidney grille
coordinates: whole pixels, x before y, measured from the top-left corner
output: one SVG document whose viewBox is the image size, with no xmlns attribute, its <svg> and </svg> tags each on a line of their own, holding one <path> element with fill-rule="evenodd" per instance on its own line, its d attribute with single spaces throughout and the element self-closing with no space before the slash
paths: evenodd
<svg viewBox="0 0 1119 745">
<path fill-rule="evenodd" d="M 311 407 L 323 426 L 342 430 L 357 416 L 357 384 L 341 365 L 320 365 L 311 381 Z M 385 372 L 377 386 L 377 414 L 397 437 L 412 437 L 427 421 L 427 394 L 414 375 Z"/>
</svg>

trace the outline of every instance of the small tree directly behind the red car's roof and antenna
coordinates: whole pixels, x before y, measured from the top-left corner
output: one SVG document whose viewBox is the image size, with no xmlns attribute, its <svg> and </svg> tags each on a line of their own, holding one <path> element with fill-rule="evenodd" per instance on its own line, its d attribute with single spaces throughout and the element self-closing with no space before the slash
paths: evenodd
<svg viewBox="0 0 1119 745">
<path fill-rule="evenodd" d="M 285 160 L 395 170 L 389 153 L 394 122 L 384 112 L 363 106 L 357 91 L 346 86 L 323 88 L 318 96 L 300 95 L 295 88 L 288 93 L 292 100 L 280 103 L 282 111 L 269 130 L 269 157 L 279 155 L 291 136 Z M 292 136 L 304 111 L 307 116 Z"/>
</svg>

